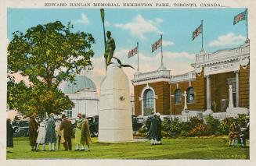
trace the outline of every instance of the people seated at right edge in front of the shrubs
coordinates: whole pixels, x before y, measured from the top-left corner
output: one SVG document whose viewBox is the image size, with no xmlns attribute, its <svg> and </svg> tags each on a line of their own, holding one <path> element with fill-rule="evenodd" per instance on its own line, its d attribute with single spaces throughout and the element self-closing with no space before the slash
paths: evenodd
<svg viewBox="0 0 256 166">
<path fill-rule="evenodd" d="M 229 126 L 229 147 L 241 145 L 242 147 L 246 147 L 246 140 L 249 139 L 249 126 L 250 123 L 247 121 L 247 127 L 242 132 L 241 127 L 238 124 L 237 120 L 235 120 Z"/>
</svg>

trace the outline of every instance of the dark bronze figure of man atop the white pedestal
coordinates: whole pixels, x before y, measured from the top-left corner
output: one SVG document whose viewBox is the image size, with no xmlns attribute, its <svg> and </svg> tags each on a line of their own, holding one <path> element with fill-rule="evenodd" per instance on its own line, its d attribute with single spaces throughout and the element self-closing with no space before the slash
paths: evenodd
<svg viewBox="0 0 256 166">
<path fill-rule="evenodd" d="M 116 44 L 114 43 L 114 38 L 111 37 L 111 32 L 106 32 L 106 50 L 104 54 L 104 58 L 106 60 L 106 65 L 110 65 L 111 59 L 114 55 L 114 50 L 116 49 Z"/>
</svg>

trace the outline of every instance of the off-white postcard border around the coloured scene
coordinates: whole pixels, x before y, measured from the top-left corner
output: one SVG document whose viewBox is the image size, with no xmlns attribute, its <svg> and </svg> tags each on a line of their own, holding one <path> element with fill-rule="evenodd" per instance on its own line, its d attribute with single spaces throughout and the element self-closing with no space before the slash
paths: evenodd
<svg viewBox="0 0 256 166">
<path fill-rule="evenodd" d="M 46 8 L 44 6 L 45 2 L 74 2 L 75 0 L 1 0 L 0 4 L 0 160 L 1 165 L 67 165 L 67 164 L 99 164 L 99 165 L 114 165 L 114 164 L 122 164 L 122 165 L 255 165 L 255 157 L 256 157 L 256 148 L 255 148 L 255 133 L 256 126 L 255 117 L 256 117 L 256 107 L 255 104 L 255 92 L 256 92 L 256 81 L 254 72 L 256 66 L 256 51 L 255 51 L 255 23 L 256 23 L 256 1 L 254 0 L 158 0 L 157 2 L 169 2 L 173 3 L 197 3 L 200 6 L 200 3 L 221 3 L 222 6 L 232 7 L 232 8 L 248 8 L 248 30 L 249 30 L 249 38 L 251 40 L 251 61 L 250 61 L 250 75 L 251 75 L 251 91 L 250 91 L 250 109 L 251 109 L 251 141 L 250 141 L 250 160 L 158 160 L 158 161 L 132 161 L 132 160 L 40 160 L 40 162 L 36 160 L 5 160 L 5 118 L 6 118 L 6 48 L 7 48 L 7 34 L 6 34 L 6 16 L 7 7 L 13 8 Z M 76 0 L 75 2 L 102 2 L 99 0 Z M 106 2 L 156 2 L 153 0 L 126 0 L 126 1 L 117 1 L 117 0 L 108 0 Z M 49 7 L 47 7 L 49 8 Z M 52 7 L 56 8 L 56 7 Z M 57 7 L 59 8 L 59 7 Z M 60 7 L 63 8 L 63 7 Z M 70 8 L 70 7 L 68 7 Z M 72 7 L 74 8 L 74 7 Z M 81 7 L 79 7 L 81 8 Z M 90 8 L 101 8 L 101 7 L 90 7 Z M 104 7 L 104 8 L 113 8 L 113 7 Z M 130 8 L 130 7 L 120 7 L 120 8 Z M 139 7 L 142 8 L 142 7 Z M 153 6 L 153 8 L 157 8 Z M 197 7 L 200 8 L 200 7 Z"/>
</svg>

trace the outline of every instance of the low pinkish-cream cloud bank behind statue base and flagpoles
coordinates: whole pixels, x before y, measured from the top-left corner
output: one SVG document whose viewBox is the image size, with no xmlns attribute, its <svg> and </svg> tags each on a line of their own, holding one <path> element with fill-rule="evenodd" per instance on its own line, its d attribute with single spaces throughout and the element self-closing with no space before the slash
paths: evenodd
<svg viewBox="0 0 256 166">
<path fill-rule="evenodd" d="M 115 57 L 121 59 L 123 64 L 132 65 L 137 69 L 137 55 L 132 58 L 127 58 L 128 49 L 121 49 L 115 51 Z M 195 55 L 187 52 L 169 52 L 164 51 L 164 65 L 167 69 L 171 70 L 171 75 L 183 74 L 193 70 L 191 63 L 194 62 Z M 93 70 L 86 72 L 86 76 L 92 79 L 96 83 L 97 91 L 99 94 L 100 83 L 105 76 L 105 64 L 103 56 L 99 58 L 92 58 Z M 114 62 L 114 60 L 113 60 Z M 160 53 L 157 55 L 146 56 L 143 53 L 139 53 L 139 70 L 140 72 L 150 72 L 157 70 L 160 66 Z M 131 68 L 124 68 L 124 72 L 128 76 L 128 79 L 133 79 L 136 70 Z M 132 82 L 129 81 L 130 93 L 133 94 Z"/>
</svg>

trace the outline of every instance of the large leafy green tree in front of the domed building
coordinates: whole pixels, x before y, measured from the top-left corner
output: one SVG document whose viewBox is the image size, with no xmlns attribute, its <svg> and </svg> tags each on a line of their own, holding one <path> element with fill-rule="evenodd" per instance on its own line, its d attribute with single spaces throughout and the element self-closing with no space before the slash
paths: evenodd
<svg viewBox="0 0 256 166">
<path fill-rule="evenodd" d="M 74 76 L 81 70 L 92 69 L 92 44 L 95 40 L 92 34 L 72 32 L 72 29 L 70 23 L 64 26 L 56 21 L 31 27 L 25 34 L 20 31 L 13 33 L 13 40 L 8 46 L 8 74 L 18 72 L 21 76 L 27 76 L 31 83 L 27 86 L 9 81 L 13 86 L 8 90 L 9 97 L 16 93 L 15 90 L 21 93 L 21 97 L 17 98 L 18 103 L 28 96 L 25 102 L 27 108 L 8 102 L 17 111 L 26 114 L 31 111 L 58 113 L 74 107 L 58 89 L 59 83 L 67 80 L 74 82 Z M 29 95 L 22 93 L 19 86 L 25 86 L 23 90 L 28 90 Z"/>
</svg>

